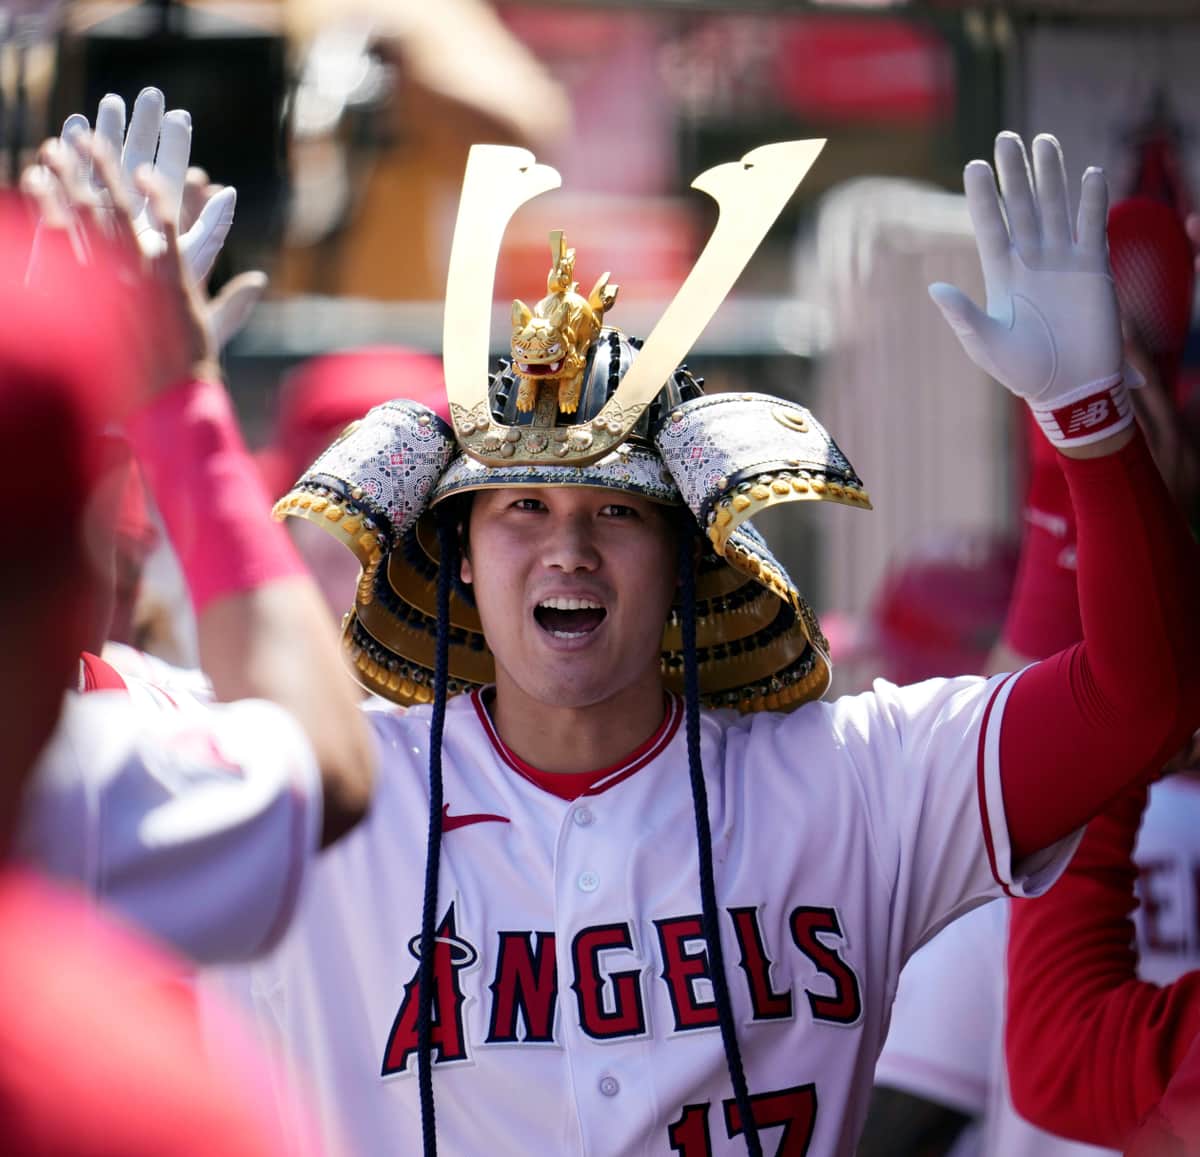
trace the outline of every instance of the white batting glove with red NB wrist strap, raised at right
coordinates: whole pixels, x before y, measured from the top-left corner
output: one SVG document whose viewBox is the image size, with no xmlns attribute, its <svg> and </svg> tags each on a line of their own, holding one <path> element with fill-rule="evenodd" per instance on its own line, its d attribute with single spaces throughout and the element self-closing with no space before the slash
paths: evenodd
<svg viewBox="0 0 1200 1157">
<path fill-rule="evenodd" d="M 996 172 L 1003 208 L 986 161 L 972 161 L 962 178 L 986 312 L 954 286 L 938 282 L 929 294 L 967 356 L 1028 402 L 1052 443 L 1098 442 L 1133 422 L 1109 269 L 1104 174 L 1096 168 L 1084 174 L 1073 229 L 1054 137 L 1034 138 L 1031 176 L 1021 138 L 1000 133 Z"/>
</svg>

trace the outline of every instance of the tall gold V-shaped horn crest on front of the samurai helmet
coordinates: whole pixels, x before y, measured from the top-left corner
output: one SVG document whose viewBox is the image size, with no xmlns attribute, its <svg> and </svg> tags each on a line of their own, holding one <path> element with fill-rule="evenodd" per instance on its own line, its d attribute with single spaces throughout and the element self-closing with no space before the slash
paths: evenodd
<svg viewBox="0 0 1200 1157">
<path fill-rule="evenodd" d="M 488 466 L 583 464 L 612 451 L 662 389 L 725 300 L 767 230 L 812 167 L 824 140 L 752 149 L 701 173 L 692 187 L 719 209 L 716 226 L 632 367 L 593 419 L 558 427 L 554 438 L 497 421 L 488 398 L 491 299 L 500 238 L 527 200 L 560 184 L 523 149 L 475 145 L 467 161 L 446 281 L 443 359 L 455 437 Z"/>
</svg>

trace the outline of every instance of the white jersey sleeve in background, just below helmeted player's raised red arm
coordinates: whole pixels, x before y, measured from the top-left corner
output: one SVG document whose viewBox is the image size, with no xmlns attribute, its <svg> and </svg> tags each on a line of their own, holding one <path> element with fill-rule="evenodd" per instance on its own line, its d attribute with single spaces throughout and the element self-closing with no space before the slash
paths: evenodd
<svg viewBox="0 0 1200 1157">
<path fill-rule="evenodd" d="M 1006 907 L 968 912 L 904 966 L 877 1085 L 983 1115 L 1003 1031 Z"/>
</svg>

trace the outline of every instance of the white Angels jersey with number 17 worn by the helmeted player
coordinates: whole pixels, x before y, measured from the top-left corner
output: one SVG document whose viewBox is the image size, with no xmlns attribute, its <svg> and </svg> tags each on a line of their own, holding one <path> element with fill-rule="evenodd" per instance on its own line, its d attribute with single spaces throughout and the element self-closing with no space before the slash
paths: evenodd
<svg viewBox="0 0 1200 1157">
<path fill-rule="evenodd" d="M 766 1152 L 848 1155 L 904 960 L 1076 840 L 1013 865 L 997 747 L 1012 677 L 790 715 L 704 713 L 721 934 Z M 443 751 L 433 1044 L 439 1152 L 744 1152 L 701 939 L 682 706 L 574 801 L 476 693 Z M 420 1146 L 415 949 L 428 708 L 371 714 L 367 819 L 316 865 L 266 960 L 223 975 L 352 1152 Z"/>
</svg>

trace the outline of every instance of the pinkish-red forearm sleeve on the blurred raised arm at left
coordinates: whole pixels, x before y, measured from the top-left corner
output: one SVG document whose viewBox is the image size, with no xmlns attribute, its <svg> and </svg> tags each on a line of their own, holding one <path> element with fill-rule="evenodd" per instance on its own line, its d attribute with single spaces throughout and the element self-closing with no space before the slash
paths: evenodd
<svg viewBox="0 0 1200 1157">
<path fill-rule="evenodd" d="M 128 424 L 200 615 L 215 599 L 306 574 L 250 456 L 224 386 L 190 382 Z"/>
</svg>

